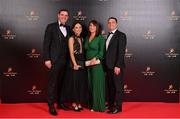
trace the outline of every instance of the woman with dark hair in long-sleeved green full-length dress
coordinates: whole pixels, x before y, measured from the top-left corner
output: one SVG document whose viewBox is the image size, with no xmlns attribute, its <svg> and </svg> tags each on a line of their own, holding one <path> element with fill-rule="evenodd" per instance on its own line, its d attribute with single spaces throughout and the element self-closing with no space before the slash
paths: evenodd
<svg viewBox="0 0 180 119">
<path fill-rule="evenodd" d="M 90 89 L 91 111 L 105 111 L 105 74 L 101 61 L 104 55 L 105 39 L 100 35 L 100 28 L 97 21 L 89 23 L 89 34 L 85 40 L 84 48 L 86 60 L 89 61 L 88 80 Z M 99 62 L 100 61 L 100 62 Z"/>
</svg>

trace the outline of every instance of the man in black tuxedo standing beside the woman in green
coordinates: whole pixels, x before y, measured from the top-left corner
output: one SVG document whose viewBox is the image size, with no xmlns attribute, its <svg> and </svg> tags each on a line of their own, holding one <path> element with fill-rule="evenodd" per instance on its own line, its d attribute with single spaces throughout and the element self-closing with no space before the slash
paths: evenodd
<svg viewBox="0 0 180 119">
<path fill-rule="evenodd" d="M 106 40 L 105 69 L 108 94 L 108 113 L 122 111 L 124 55 L 126 35 L 117 29 L 118 21 L 114 17 L 108 19 L 109 35 Z"/>
</svg>

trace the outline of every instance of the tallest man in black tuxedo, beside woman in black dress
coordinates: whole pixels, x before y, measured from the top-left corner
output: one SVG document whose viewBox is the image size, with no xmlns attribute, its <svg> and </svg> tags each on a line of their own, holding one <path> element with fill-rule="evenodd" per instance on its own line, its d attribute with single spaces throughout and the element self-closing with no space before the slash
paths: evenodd
<svg viewBox="0 0 180 119">
<path fill-rule="evenodd" d="M 57 115 L 54 107 L 56 92 L 58 93 L 58 108 L 68 110 L 60 99 L 68 54 L 67 40 L 70 33 L 70 27 L 66 25 L 68 18 L 68 11 L 61 9 L 58 12 L 58 21 L 47 26 L 44 36 L 43 53 L 45 66 L 49 69 L 50 75 L 47 101 L 49 113 L 52 115 Z"/>
</svg>

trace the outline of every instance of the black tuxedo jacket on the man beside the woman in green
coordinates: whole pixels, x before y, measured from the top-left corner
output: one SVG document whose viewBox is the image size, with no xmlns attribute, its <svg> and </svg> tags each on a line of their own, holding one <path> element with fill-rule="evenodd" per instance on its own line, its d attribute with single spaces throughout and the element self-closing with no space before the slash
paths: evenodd
<svg viewBox="0 0 180 119">
<path fill-rule="evenodd" d="M 107 68 L 125 68 L 124 55 L 126 43 L 126 35 L 119 30 L 116 30 L 105 53 L 105 65 Z"/>
</svg>

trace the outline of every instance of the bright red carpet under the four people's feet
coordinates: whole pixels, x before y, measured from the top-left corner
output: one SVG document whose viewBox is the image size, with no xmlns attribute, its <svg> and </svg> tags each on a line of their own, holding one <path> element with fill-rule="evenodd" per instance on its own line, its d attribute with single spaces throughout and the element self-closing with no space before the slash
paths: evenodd
<svg viewBox="0 0 180 119">
<path fill-rule="evenodd" d="M 0 118 L 10 117 L 54 118 L 45 103 L 0 104 Z M 82 112 L 58 110 L 56 118 L 180 118 L 180 103 L 125 102 L 123 112 L 114 115 L 88 109 Z"/>
</svg>

